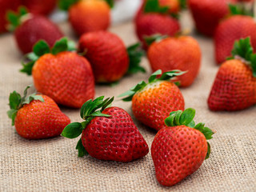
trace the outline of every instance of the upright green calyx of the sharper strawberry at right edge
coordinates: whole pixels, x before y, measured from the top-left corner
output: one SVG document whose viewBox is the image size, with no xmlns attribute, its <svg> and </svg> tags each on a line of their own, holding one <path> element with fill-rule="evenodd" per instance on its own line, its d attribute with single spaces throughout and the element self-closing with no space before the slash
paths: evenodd
<svg viewBox="0 0 256 192">
<path fill-rule="evenodd" d="M 234 42 L 234 48 L 231 51 L 232 56 L 230 59 L 239 59 L 246 65 L 250 66 L 254 78 L 256 78 L 256 54 L 254 54 L 253 47 L 250 44 L 250 37 L 241 38 Z"/>
</svg>

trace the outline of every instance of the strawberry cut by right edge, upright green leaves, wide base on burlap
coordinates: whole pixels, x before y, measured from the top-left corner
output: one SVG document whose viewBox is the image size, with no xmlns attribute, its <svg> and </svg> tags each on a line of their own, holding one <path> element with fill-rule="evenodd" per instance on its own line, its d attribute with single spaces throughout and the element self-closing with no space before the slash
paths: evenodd
<svg viewBox="0 0 256 192">
<path fill-rule="evenodd" d="M 210 110 L 243 110 L 256 104 L 256 54 L 250 38 L 235 42 L 232 55 L 218 70 L 208 98 Z"/>
</svg>

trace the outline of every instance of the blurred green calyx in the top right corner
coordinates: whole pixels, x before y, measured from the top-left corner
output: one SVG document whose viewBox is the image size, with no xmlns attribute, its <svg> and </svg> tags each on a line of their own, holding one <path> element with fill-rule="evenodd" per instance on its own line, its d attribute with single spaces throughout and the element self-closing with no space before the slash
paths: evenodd
<svg viewBox="0 0 256 192">
<path fill-rule="evenodd" d="M 231 15 L 246 15 L 250 17 L 254 17 L 254 7 L 251 6 L 248 9 L 245 4 L 237 3 L 237 4 L 229 4 L 230 14 Z"/>
</svg>

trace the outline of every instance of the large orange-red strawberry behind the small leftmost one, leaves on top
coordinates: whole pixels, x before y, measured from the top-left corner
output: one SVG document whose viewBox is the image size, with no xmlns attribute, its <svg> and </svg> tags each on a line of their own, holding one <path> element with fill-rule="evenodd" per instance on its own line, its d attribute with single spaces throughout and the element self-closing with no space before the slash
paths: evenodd
<svg viewBox="0 0 256 192">
<path fill-rule="evenodd" d="M 33 75 L 38 92 L 58 104 L 79 108 L 94 98 L 94 75 L 86 58 L 68 51 L 68 43 L 62 38 L 50 50 L 46 42 L 39 41 L 27 56 L 32 62 L 24 64 L 22 72 Z"/>
</svg>

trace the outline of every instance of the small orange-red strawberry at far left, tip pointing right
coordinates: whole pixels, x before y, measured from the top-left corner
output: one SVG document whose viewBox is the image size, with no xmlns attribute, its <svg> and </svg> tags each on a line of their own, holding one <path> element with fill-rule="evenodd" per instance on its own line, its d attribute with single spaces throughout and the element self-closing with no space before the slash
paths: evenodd
<svg viewBox="0 0 256 192">
<path fill-rule="evenodd" d="M 24 96 L 16 91 L 10 94 L 10 110 L 7 112 L 12 119 L 17 133 L 22 138 L 39 139 L 52 138 L 62 133 L 70 118 L 63 114 L 51 98 L 42 94 L 27 96 L 26 87 Z"/>
</svg>

